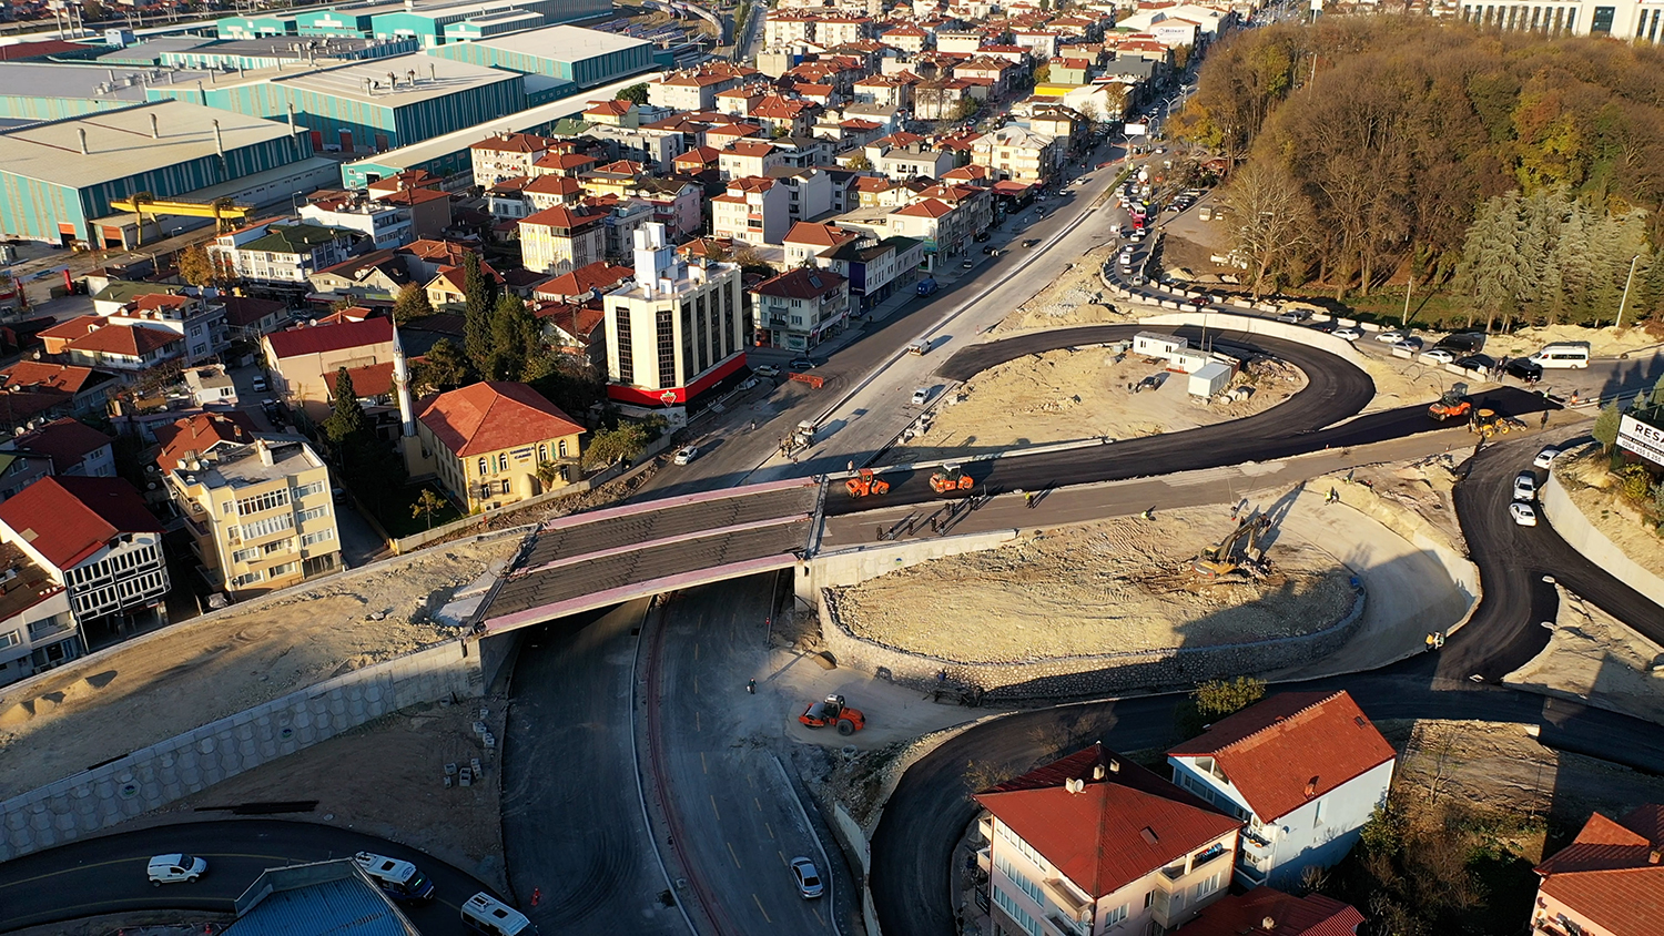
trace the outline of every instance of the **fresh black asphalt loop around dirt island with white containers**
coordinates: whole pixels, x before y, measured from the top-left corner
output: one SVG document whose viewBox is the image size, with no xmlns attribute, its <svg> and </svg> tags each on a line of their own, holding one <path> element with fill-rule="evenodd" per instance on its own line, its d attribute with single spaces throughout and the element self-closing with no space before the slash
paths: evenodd
<svg viewBox="0 0 1664 936">
<path fill-rule="evenodd" d="M 955 354 L 938 374 L 963 381 L 1025 354 L 1127 341 L 1138 331 L 1150 329 L 1146 326 L 1092 326 L 993 341 Z M 1203 341 L 1200 328 L 1180 328 L 1176 334 L 1188 337 L 1193 344 Z M 1246 419 L 1110 446 L 975 462 L 968 466 L 970 474 L 987 490 L 1045 490 L 1068 484 L 1125 480 L 1250 461 L 1265 462 L 1323 449 L 1384 442 L 1448 427 L 1429 419 L 1426 406 L 1421 404 L 1350 419 L 1374 397 L 1374 382 L 1356 364 L 1326 351 L 1246 333 L 1210 331 L 1206 341 L 1220 351 L 1275 354 L 1301 367 L 1308 384 L 1286 402 Z M 1543 397 L 1513 387 L 1478 394 L 1478 401 L 1511 416 L 1539 412 L 1546 406 Z M 932 500 L 937 495 L 929 487 L 929 469 L 887 472 L 890 492 L 885 497 L 830 499 L 827 500 L 827 514 L 855 514 Z"/>
</svg>

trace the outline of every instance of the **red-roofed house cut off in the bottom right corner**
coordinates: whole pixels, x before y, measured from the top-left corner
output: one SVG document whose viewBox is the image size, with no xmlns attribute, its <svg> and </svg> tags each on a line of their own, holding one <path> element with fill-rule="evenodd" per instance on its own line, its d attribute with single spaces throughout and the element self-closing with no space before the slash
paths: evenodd
<svg viewBox="0 0 1664 936">
<path fill-rule="evenodd" d="M 1649 803 L 1617 821 L 1591 815 L 1538 874 L 1533 936 L 1664 933 L 1664 806 Z"/>
</svg>

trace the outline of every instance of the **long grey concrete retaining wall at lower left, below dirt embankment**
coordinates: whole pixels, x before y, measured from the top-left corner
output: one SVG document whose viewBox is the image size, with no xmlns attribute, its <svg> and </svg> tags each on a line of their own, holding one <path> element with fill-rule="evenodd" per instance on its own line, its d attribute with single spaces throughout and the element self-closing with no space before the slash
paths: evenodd
<svg viewBox="0 0 1664 936">
<path fill-rule="evenodd" d="M 238 712 L 5 800 L 0 861 L 98 833 L 399 708 L 478 697 L 483 685 L 478 647 L 448 642 Z"/>
</svg>

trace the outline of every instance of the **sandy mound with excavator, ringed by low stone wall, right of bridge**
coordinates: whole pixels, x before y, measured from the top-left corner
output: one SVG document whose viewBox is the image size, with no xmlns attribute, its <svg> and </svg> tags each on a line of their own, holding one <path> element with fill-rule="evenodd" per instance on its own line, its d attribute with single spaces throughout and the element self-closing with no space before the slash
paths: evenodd
<svg viewBox="0 0 1664 936">
<path fill-rule="evenodd" d="M 1191 509 L 1037 532 L 845 589 L 840 608 L 860 637 L 967 663 L 1238 643 L 1351 608 L 1351 570 L 1290 535 L 1263 582 L 1195 574 L 1190 560 L 1231 525 Z"/>
</svg>

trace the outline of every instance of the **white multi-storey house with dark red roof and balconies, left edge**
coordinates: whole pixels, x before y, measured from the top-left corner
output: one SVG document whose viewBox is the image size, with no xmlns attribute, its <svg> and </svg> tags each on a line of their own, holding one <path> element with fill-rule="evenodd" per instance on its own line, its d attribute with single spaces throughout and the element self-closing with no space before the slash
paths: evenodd
<svg viewBox="0 0 1664 936">
<path fill-rule="evenodd" d="M 0 504 L 0 540 L 23 550 L 60 585 L 80 627 L 166 623 L 168 562 L 161 524 L 120 477 L 43 477 Z M 83 632 L 83 638 L 87 633 Z"/>
</svg>

